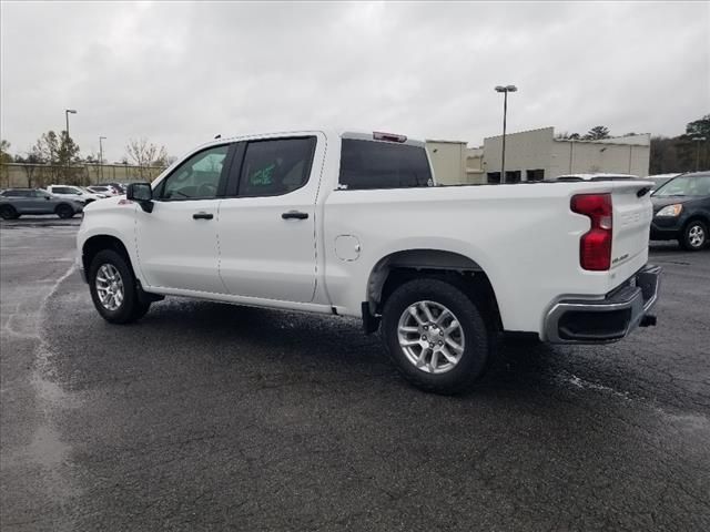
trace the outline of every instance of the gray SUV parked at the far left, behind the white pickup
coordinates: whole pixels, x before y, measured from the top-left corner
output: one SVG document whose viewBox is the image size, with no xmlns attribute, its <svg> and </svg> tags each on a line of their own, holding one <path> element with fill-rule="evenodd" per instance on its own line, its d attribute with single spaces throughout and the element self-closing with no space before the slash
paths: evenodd
<svg viewBox="0 0 710 532">
<path fill-rule="evenodd" d="M 0 192 L 0 217 L 16 219 L 23 214 L 55 214 L 71 218 L 83 211 L 83 204 L 59 197 L 40 188 L 8 188 Z"/>
</svg>

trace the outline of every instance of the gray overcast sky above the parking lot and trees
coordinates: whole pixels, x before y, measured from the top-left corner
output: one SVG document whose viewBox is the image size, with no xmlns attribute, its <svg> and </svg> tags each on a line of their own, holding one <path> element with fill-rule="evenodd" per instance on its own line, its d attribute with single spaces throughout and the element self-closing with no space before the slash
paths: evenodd
<svg viewBox="0 0 710 532">
<path fill-rule="evenodd" d="M 6 2 L 2 139 L 120 160 L 215 134 L 345 126 L 483 143 L 508 131 L 677 135 L 710 113 L 710 2 Z"/>
</svg>

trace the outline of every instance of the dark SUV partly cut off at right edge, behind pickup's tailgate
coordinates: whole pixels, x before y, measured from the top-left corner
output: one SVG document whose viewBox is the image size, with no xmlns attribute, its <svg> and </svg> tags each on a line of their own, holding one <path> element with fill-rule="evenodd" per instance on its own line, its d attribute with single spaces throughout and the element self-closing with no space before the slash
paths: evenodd
<svg viewBox="0 0 710 532">
<path fill-rule="evenodd" d="M 652 241 L 677 239 L 696 252 L 708 244 L 710 228 L 710 172 L 682 174 L 659 187 L 651 196 Z"/>
</svg>

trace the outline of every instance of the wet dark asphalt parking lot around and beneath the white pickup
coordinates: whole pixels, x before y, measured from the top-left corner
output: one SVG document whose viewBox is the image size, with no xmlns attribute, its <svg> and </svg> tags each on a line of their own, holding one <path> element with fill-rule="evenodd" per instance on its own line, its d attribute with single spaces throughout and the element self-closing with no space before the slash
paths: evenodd
<svg viewBox="0 0 710 532">
<path fill-rule="evenodd" d="M 653 244 L 659 325 L 507 344 L 463 397 L 336 318 L 166 299 L 111 326 L 79 221 L 2 223 L 1 528 L 710 530 L 710 252 Z"/>
</svg>

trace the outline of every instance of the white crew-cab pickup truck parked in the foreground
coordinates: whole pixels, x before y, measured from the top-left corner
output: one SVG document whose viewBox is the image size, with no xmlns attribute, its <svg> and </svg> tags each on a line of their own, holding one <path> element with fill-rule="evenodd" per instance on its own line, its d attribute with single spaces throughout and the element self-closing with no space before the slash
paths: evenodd
<svg viewBox="0 0 710 532">
<path fill-rule="evenodd" d="M 84 209 L 78 265 L 123 324 L 187 296 L 362 318 L 412 382 L 456 392 L 496 339 L 608 342 L 649 315 L 651 184 L 436 186 L 423 142 L 219 140 Z"/>
</svg>

